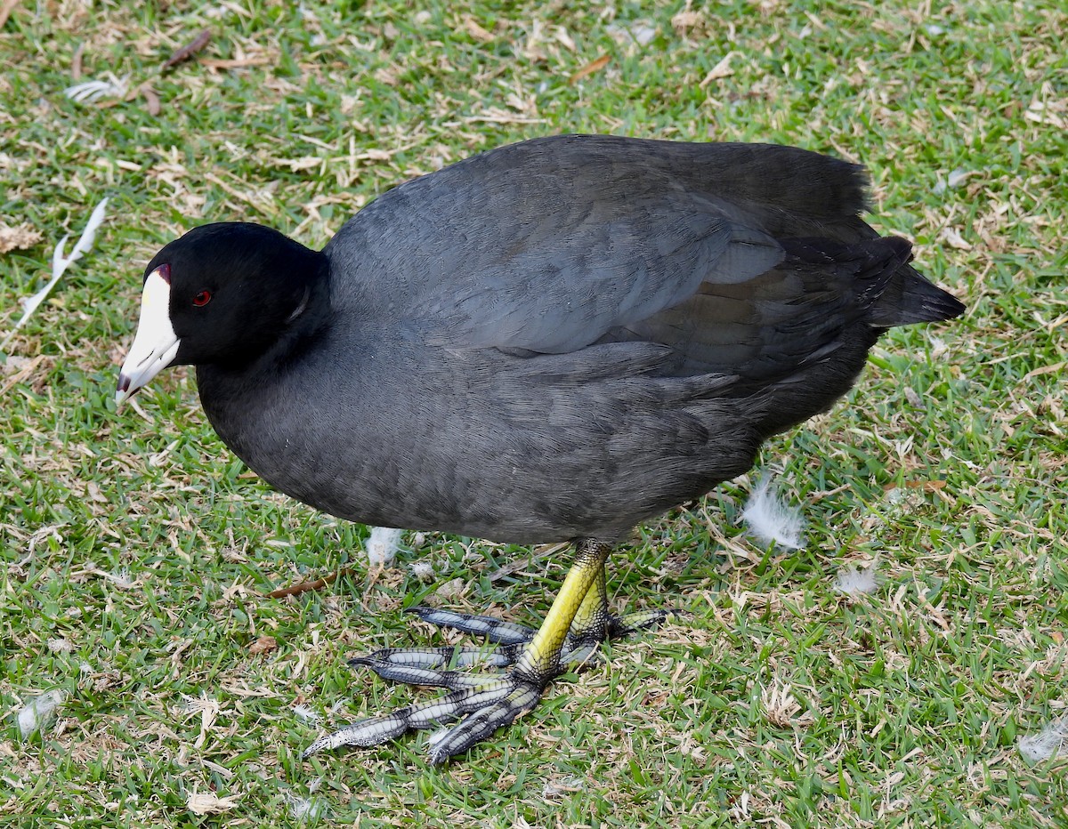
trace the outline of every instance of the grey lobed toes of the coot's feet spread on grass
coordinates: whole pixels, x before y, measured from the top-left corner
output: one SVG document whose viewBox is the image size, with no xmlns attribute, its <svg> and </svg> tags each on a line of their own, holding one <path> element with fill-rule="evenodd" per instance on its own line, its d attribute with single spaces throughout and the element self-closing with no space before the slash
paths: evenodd
<svg viewBox="0 0 1068 829">
<path fill-rule="evenodd" d="M 462 718 L 459 724 L 430 742 L 430 762 L 442 763 L 531 711 L 549 683 L 561 673 L 599 661 L 597 649 L 604 639 L 650 627 L 678 611 L 650 610 L 621 617 L 607 616 L 598 625 L 569 632 L 556 665 L 533 671 L 517 664 L 535 636 L 533 628 L 492 617 L 429 607 L 415 607 L 411 612 L 431 624 L 485 636 L 493 644 L 484 648 L 383 648 L 351 659 L 350 665 L 371 668 L 383 679 L 445 688 L 449 692 L 435 700 L 347 726 L 315 740 L 304 750 L 303 756 L 343 746 L 377 746 L 408 731 L 430 729 Z M 504 670 L 489 675 L 456 670 L 472 666 Z"/>
</svg>

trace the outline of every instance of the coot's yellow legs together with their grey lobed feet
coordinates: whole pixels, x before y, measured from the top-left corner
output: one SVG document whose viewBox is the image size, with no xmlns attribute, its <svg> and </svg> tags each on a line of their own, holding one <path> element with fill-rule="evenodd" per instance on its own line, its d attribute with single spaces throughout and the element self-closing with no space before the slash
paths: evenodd
<svg viewBox="0 0 1068 829">
<path fill-rule="evenodd" d="M 553 679 L 586 661 L 606 638 L 655 624 L 671 612 L 609 613 L 604 561 L 610 551 L 592 539 L 578 542 L 575 563 L 537 631 L 490 617 L 415 608 L 428 622 L 483 635 L 497 647 L 389 648 L 354 659 L 386 679 L 450 692 L 347 726 L 317 739 L 304 756 L 342 746 L 376 746 L 413 729 L 464 718 L 433 742 L 430 762 L 441 763 L 527 714 Z M 454 670 L 476 664 L 505 670 L 482 675 Z"/>
</svg>

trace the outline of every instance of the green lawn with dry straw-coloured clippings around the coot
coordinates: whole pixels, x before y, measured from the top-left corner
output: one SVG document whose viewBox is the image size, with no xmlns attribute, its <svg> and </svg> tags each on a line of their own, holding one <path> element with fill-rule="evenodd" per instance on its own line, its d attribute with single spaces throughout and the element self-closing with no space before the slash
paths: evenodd
<svg viewBox="0 0 1068 829">
<path fill-rule="evenodd" d="M 0 255 L 0 334 L 111 202 L 0 366 L 0 714 L 67 695 L 28 740 L 3 720 L 0 822 L 1064 826 L 1068 763 L 1017 740 L 1068 703 L 1065 31 L 1055 0 L 16 3 L 0 216 L 43 239 Z M 79 71 L 129 93 L 77 105 Z M 184 370 L 116 414 L 141 269 L 205 221 L 317 246 L 405 178 L 560 131 L 861 160 L 878 226 L 969 313 L 893 331 L 847 401 L 766 447 L 804 549 L 753 546 L 748 482 L 723 485 L 614 559 L 621 607 L 685 622 L 617 643 L 464 762 L 428 767 L 425 735 L 302 762 L 324 728 L 419 696 L 344 664 L 437 636 L 404 607 L 529 621 L 566 562 L 493 578 L 528 551 L 427 536 L 372 573 L 366 528 L 250 477 Z M 875 594 L 833 589 L 875 558 Z M 229 799 L 198 815 L 193 794 Z"/>
</svg>

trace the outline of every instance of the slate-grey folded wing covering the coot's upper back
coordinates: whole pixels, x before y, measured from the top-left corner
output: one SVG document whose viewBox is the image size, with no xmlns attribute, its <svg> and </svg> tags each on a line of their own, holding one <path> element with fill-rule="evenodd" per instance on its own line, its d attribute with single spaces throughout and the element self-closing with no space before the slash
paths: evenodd
<svg viewBox="0 0 1068 829">
<path fill-rule="evenodd" d="M 425 341 L 563 353 L 767 272 L 776 237 L 870 234 L 863 184 L 787 147 L 555 137 L 390 191 L 326 253 L 357 274 L 341 301 Z"/>
</svg>

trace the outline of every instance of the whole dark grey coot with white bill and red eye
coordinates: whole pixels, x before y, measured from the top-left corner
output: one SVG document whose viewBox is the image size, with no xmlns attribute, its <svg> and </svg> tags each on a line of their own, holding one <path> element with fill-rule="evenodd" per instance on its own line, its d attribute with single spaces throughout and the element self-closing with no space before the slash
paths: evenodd
<svg viewBox="0 0 1068 829">
<path fill-rule="evenodd" d="M 536 631 L 429 608 L 483 649 L 387 649 L 449 689 L 308 752 L 462 721 L 441 762 L 530 711 L 566 666 L 662 613 L 614 617 L 611 546 L 744 473 L 828 409 L 890 325 L 963 306 L 860 219 L 863 170 L 802 149 L 559 135 L 389 191 L 321 253 L 209 224 L 145 269 L 121 402 L 197 366 L 222 440 L 351 521 L 534 544 L 576 560 Z M 450 670 L 485 657 L 503 669 Z"/>
</svg>

